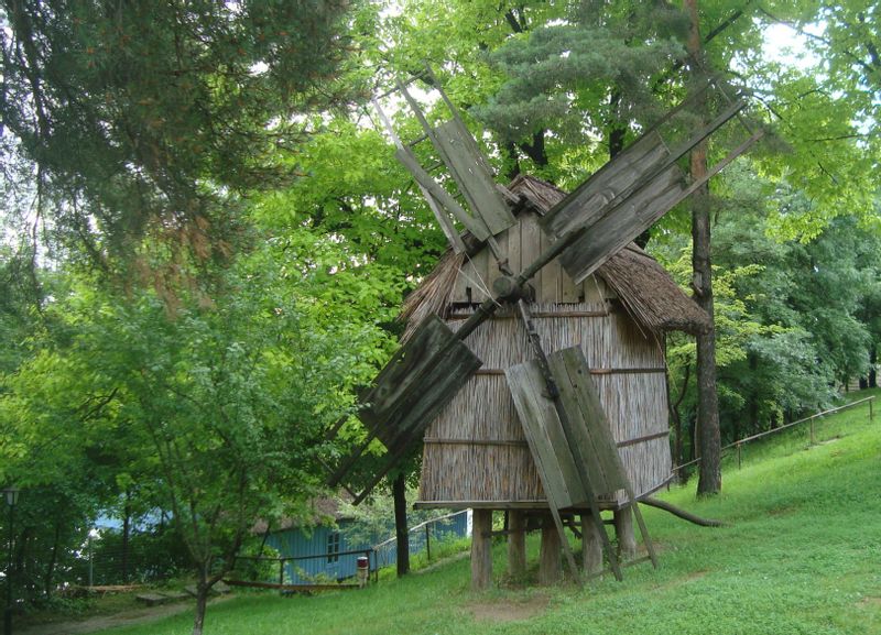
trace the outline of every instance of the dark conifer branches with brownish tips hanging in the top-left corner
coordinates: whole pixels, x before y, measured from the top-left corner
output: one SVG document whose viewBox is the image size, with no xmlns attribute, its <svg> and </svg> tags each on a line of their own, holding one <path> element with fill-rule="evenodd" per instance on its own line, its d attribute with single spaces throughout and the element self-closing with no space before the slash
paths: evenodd
<svg viewBox="0 0 881 635">
<path fill-rule="evenodd" d="M 46 226 L 106 273 L 144 236 L 171 245 L 165 261 L 222 260 L 240 196 L 296 173 L 273 153 L 302 138 L 297 113 L 340 97 L 346 10 L 3 2 L 2 132 L 36 166 Z"/>
</svg>

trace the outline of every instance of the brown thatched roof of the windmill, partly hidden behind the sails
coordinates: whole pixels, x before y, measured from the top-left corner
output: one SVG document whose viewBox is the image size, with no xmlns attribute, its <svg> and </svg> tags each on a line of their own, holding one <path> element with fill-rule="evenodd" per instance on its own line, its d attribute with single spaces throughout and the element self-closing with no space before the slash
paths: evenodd
<svg viewBox="0 0 881 635">
<path fill-rule="evenodd" d="M 520 198 L 518 207 L 544 215 L 566 193 L 541 179 L 520 175 L 508 186 Z M 404 303 L 401 319 L 407 322 L 404 339 L 428 314 L 442 317 L 449 308 L 459 267 L 465 254 L 448 251 L 437 266 Z M 657 261 L 630 243 L 597 270 L 606 284 L 618 295 L 628 314 L 642 328 L 654 332 L 681 330 L 700 332 L 709 327 L 709 318 L 686 296 Z"/>
</svg>

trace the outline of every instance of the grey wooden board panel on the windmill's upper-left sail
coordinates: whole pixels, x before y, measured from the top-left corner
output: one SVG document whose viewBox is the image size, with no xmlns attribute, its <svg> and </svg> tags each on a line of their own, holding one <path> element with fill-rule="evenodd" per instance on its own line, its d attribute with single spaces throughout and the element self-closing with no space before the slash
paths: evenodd
<svg viewBox="0 0 881 635">
<path fill-rule="evenodd" d="M 471 211 L 483 221 L 490 233 L 496 236 L 514 225 L 514 215 L 496 188 L 468 129 L 458 119 L 452 119 L 435 129 L 434 139 Z"/>
</svg>

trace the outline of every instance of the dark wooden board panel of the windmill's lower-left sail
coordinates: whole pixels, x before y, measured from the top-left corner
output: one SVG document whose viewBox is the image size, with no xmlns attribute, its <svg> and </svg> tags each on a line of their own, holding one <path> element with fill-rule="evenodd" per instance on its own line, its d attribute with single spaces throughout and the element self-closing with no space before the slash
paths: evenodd
<svg viewBox="0 0 881 635">
<path fill-rule="evenodd" d="M 437 316 L 428 316 L 363 393 L 358 418 L 395 451 L 413 442 L 482 365 Z"/>
</svg>

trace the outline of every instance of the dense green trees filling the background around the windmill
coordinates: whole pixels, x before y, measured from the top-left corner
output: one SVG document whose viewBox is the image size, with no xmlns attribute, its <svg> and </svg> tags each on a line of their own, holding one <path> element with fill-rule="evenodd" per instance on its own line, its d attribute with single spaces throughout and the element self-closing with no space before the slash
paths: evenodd
<svg viewBox="0 0 881 635">
<path fill-rule="evenodd" d="M 879 13 L 857 0 L 2 2 L 0 482 L 25 492 L 28 601 L 51 601 L 99 515 L 129 539 L 160 511 L 207 589 L 254 518 L 322 493 L 322 464 L 362 434 L 331 442 L 327 428 L 394 350 L 402 298 L 445 250 L 369 107 L 424 62 L 501 180 L 564 189 L 697 75 L 748 94 L 765 140 L 704 201 L 721 441 L 874 384 Z M 772 54 L 772 35 L 792 51 Z M 684 204 L 642 237 L 684 288 L 690 231 Z M 666 347 L 686 462 L 695 343 Z"/>
</svg>

